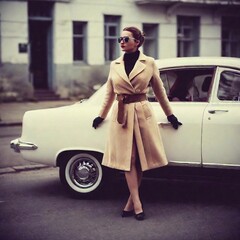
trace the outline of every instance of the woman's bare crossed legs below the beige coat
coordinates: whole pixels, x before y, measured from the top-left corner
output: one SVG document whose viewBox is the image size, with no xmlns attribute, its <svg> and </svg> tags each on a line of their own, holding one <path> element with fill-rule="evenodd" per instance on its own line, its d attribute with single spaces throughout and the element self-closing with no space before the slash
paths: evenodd
<svg viewBox="0 0 240 240">
<path fill-rule="evenodd" d="M 129 172 L 125 172 L 125 178 L 129 188 L 130 196 L 124 210 L 131 211 L 134 209 L 136 214 L 141 213 L 143 209 L 139 197 L 139 186 L 142 179 L 142 170 L 139 163 L 137 162 L 137 148 L 135 139 L 133 139 L 131 170 Z"/>
</svg>

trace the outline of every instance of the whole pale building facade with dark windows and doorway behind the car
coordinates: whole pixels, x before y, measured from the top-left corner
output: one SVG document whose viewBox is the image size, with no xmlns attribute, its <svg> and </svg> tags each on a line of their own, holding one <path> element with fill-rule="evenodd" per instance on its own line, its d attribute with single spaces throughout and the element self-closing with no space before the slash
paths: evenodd
<svg viewBox="0 0 240 240">
<path fill-rule="evenodd" d="M 1 98 L 91 95 L 125 26 L 145 32 L 154 58 L 240 57 L 239 22 L 239 0 L 0 0 Z"/>
</svg>

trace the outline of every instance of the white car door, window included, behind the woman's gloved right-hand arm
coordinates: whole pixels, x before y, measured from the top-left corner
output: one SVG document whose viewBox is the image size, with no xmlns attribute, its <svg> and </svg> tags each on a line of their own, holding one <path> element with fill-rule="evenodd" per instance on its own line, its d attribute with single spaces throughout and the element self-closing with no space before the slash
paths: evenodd
<svg viewBox="0 0 240 240">
<path fill-rule="evenodd" d="M 210 79 L 211 82 L 214 70 L 214 67 L 161 70 L 160 76 L 174 115 L 183 123 L 178 130 L 173 129 L 159 104 L 157 102 L 152 104 L 167 158 L 171 164 L 200 166 L 202 163 L 202 119 L 208 105 L 207 94 L 202 86 L 205 84 L 205 79 Z M 187 86 L 184 87 L 185 84 Z M 155 101 L 153 96 L 150 100 Z"/>
</svg>

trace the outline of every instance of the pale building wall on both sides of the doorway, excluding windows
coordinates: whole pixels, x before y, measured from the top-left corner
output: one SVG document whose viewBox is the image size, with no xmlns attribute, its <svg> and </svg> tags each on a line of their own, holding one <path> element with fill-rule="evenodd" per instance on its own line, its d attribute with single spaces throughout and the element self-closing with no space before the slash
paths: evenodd
<svg viewBox="0 0 240 240">
<path fill-rule="evenodd" d="M 8 75 L 8 82 L 11 82 L 11 74 L 20 74 L 20 81 L 31 85 L 28 53 L 18 51 L 19 43 L 28 42 L 27 1 L 0 1 L 0 14 L 1 75 Z M 92 90 L 93 85 L 106 81 L 109 63 L 104 60 L 104 15 L 121 16 L 121 29 L 129 25 L 142 28 L 143 23 L 159 24 L 159 58 L 177 56 L 177 16 L 200 16 L 199 55 L 221 56 L 221 16 L 206 7 L 182 5 L 169 10 L 165 6 L 137 5 L 129 0 L 56 2 L 53 9 L 53 79 L 50 88 L 62 96 L 69 93 L 84 95 Z M 86 63 L 73 61 L 72 21 L 88 23 Z"/>
</svg>

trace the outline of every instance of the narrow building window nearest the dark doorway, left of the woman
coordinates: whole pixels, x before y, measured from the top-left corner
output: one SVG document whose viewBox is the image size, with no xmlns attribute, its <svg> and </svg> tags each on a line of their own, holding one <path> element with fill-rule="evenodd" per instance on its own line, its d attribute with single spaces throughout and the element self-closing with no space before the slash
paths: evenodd
<svg viewBox="0 0 240 240">
<path fill-rule="evenodd" d="M 86 22 L 73 22 L 73 61 L 86 62 L 86 28 Z"/>
</svg>

